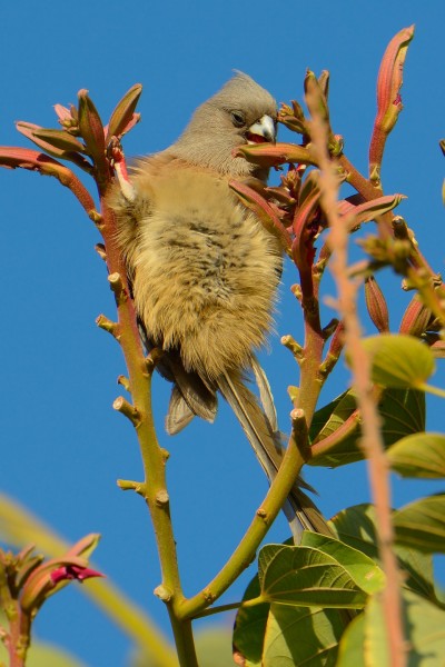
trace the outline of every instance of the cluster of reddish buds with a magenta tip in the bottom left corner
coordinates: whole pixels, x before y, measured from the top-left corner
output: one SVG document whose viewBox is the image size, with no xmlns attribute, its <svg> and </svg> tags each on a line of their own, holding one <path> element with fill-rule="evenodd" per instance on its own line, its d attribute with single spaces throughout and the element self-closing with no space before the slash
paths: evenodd
<svg viewBox="0 0 445 667">
<path fill-rule="evenodd" d="M 0 549 L 0 608 L 8 623 L 8 627 L 0 627 L 0 638 L 11 665 L 24 665 L 32 620 L 51 595 L 69 581 L 103 576 L 88 567 L 88 556 L 98 541 L 98 535 L 88 535 L 63 556 L 50 560 L 36 555 L 33 545 L 17 555 Z"/>
</svg>

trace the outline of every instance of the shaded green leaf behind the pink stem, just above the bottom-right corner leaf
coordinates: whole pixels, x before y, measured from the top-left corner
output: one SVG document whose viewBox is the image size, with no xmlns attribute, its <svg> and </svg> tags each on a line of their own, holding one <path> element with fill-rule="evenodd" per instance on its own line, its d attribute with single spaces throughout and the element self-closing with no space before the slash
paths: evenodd
<svg viewBox="0 0 445 667">
<path fill-rule="evenodd" d="M 338 512 L 329 525 L 338 539 L 378 561 L 373 505 L 348 507 Z M 404 586 L 435 603 L 437 597 L 434 589 L 432 556 L 403 545 L 395 545 L 395 551 L 398 566 L 404 574 Z"/>
</svg>

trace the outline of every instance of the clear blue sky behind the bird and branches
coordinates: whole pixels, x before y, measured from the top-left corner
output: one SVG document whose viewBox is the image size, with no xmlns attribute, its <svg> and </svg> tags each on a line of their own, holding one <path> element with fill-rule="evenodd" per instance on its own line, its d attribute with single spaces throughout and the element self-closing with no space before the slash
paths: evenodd
<svg viewBox="0 0 445 667">
<path fill-rule="evenodd" d="M 385 190 L 408 199 L 400 213 L 414 227 L 435 270 L 444 263 L 443 88 L 445 8 L 423 4 L 322 0 L 144 2 L 108 0 L 2 3 L 0 143 L 26 146 L 13 127 L 27 120 L 56 127 L 52 104 L 76 102 L 87 88 L 106 119 L 134 83 L 144 84 L 142 122 L 127 138 L 127 155 L 155 152 L 171 143 L 192 110 L 240 69 L 278 101 L 300 99 L 307 67 L 332 74 L 334 130 L 345 137 L 349 159 L 366 170 L 375 116 L 375 80 L 389 39 L 416 24 L 402 91 L 405 109 L 390 138 L 383 169 Z M 98 232 L 71 193 L 49 178 L 0 171 L 2 220 L 2 327 L 0 490 L 31 508 L 73 541 L 102 534 L 96 561 L 166 631 L 162 605 L 152 597 L 159 571 L 144 502 L 122 494 L 117 478 L 139 479 L 134 432 L 111 409 L 125 372 L 120 350 L 95 326 L 113 317 L 106 271 L 93 251 Z M 270 352 L 261 356 L 276 397 L 281 428 L 288 427 L 286 387 L 297 368 L 279 337 L 301 336 L 300 313 L 289 295 L 296 281 L 285 272 Z M 407 299 L 388 275 L 396 328 Z M 327 290 L 328 291 L 328 290 Z M 333 313 L 326 311 L 326 318 Z M 373 332 L 367 325 L 367 331 Z M 343 364 L 339 366 L 343 367 Z M 436 384 L 445 376 L 439 370 Z M 342 368 L 328 384 L 327 401 L 348 381 Z M 216 425 L 199 424 L 170 439 L 162 432 L 169 387 L 156 382 L 156 415 L 170 450 L 168 477 L 186 594 L 216 573 L 241 537 L 266 491 L 263 472 L 229 410 Z M 443 404 L 431 401 L 428 427 L 441 429 Z M 309 470 L 327 516 L 369 498 L 364 466 Z M 400 505 L 439 485 L 396 482 Z M 270 541 L 287 537 L 285 520 Z M 240 597 L 250 575 L 225 598 Z M 445 576 L 442 577 L 445 580 Z M 90 667 L 125 665 L 128 643 L 78 591 L 53 598 L 38 634 L 71 648 Z M 226 620 L 229 623 L 229 620 Z"/>
</svg>

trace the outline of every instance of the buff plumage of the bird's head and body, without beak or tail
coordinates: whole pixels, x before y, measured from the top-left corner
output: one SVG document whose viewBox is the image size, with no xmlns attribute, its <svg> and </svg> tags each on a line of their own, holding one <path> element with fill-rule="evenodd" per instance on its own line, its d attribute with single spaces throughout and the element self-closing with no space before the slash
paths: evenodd
<svg viewBox="0 0 445 667">
<path fill-rule="evenodd" d="M 118 190 L 111 199 L 150 341 L 179 350 L 185 369 L 207 385 L 248 367 L 271 323 L 280 249 L 228 179 L 257 176 L 233 150 L 275 113 L 271 96 L 237 74 L 199 107 L 174 146 L 136 163 L 134 201 Z"/>
</svg>

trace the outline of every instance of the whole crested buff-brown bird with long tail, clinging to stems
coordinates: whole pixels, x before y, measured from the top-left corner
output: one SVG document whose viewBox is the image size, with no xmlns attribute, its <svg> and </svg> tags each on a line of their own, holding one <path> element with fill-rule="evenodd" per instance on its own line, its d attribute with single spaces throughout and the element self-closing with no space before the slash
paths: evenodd
<svg viewBox="0 0 445 667">
<path fill-rule="evenodd" d="M 175 143 L 137 159 L 128 178 L 118 171 L 108 196 L 145 347 L 162 350 L 158 370 L 172 382 L 167 432 L 195 416 L 214 421 L 219 392 L 270 481 L 283 436 L 256 350 L 273 328 L 283 248 L 229 183 L 267 181 L 268 169 L 234 152 L 275 142 L 276 131 L 275 99 L 237 71 Z M 299 481 L 285 511 L 295 535 L 328 531 Z"/>
</svg>

